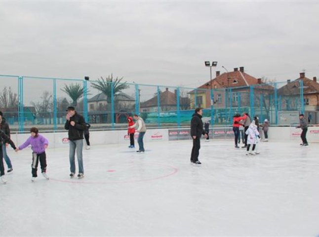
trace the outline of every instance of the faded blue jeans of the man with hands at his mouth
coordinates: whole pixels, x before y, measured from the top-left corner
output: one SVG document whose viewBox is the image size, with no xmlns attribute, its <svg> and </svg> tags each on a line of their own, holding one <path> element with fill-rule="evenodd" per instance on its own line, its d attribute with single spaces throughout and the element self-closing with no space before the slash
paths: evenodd
<svg viewBox="0 0 319 237">
<path fill-rule="evenodd" d="M 79 163 L 79 173 L 84 174 L 83 170 L 83 158 L 82 158 L 82 149 L 83 149 L 83 139 L 69 141 L 70 142 L 70 171 L 72 173 L 76 172 L 76 162 L 75 154 L 77 152 L 77 158 Z"/>
</svg>

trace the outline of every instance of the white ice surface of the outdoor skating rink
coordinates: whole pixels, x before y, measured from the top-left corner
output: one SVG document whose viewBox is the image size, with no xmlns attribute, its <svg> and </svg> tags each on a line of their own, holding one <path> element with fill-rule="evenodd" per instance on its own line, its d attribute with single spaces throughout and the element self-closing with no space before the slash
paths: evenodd
<svg viewBox="0 0 319 237">
<path fill-rule="evenodd" d="M 260 143 L 245 156 L 233 143 L 201 141 L 200 166 L 192 141 L 146 143 L 145 154 L 93 145 L 80 180 L 68 149 L 48 149 L 50 180 L 39 164 L 35 182 L 31 149 L 8 148 L 0 236 L 319 236 L 319 144 Z"/>
</svg>

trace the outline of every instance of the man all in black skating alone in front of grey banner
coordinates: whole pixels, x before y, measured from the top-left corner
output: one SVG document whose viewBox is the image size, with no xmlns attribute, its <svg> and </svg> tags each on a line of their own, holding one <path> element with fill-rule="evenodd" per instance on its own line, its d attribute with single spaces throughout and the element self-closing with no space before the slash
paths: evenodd
<svg viewBox="0 0 319 237">
<path fill-rule="evenodd" d="M 200 137 L 201 135 L 205 135 L 207 137 L 207 134 L 203 130 L 203 124 L 202 124 L 202 108 L 197 108 L 195 110 L 195 114 L 193 115 L 192 121 L 191 121 L 191 136 L 193 138 L 193 149 L 191 154 L 191 162 L 195 164 L 201 164 L 199 161 L 199 149 L 200 149 Z"/>
</svg>

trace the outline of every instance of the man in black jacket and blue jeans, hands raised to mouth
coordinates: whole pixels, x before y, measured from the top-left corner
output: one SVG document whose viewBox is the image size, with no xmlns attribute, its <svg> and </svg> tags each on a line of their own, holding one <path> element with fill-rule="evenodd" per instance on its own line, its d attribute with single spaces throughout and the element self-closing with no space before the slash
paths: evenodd
<svg viewBox="0 0 319 237">
<path fill-rule="evenodd" d="M 73 178 L 76 173 L 75 154 L 77 152 L 77 158 L 79 163 L 78 178 L 84 177 L 83 168 L 83 131 L 86 129 L 84 118 L 79 115 L 73 106 L 68 107 L 66 115 L 66 122 L 64 128 L 69 130 L 69 142 L 70 142 L 70 177 Z"/>
</svg>

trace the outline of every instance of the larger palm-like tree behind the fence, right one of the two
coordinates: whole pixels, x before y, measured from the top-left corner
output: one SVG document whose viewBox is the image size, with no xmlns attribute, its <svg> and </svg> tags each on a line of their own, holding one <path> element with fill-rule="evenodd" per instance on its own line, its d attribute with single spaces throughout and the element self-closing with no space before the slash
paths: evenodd
<svg viewBox="0 0 319 237">
<path fill-rule="evenodd" d="M 113 96 L 120 93 L 122 90 L 129 88 L 129 85 L 127 82 L 121 82 L 123 77 L 120 79 L 117 77 L 116 79 L 113 79 L 113 74 L 111 76 L 109 75 L 106 79 L 101 77 L 101 79 L 97 79 L 97 82 L 91 83 L 91 86 L 95 89 L 98 89 L 103 94 L 106 95 L 106 101 L 107 101 L 107 111 L 111 111 L 111 99 L 112 99 L 112 86 L 113 86 Z M 110 121 L 110 117 L 108 116 L 108 122 Z"/>
</svg>

